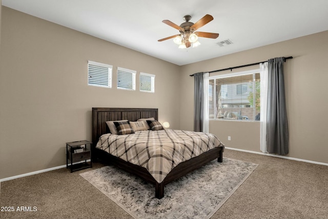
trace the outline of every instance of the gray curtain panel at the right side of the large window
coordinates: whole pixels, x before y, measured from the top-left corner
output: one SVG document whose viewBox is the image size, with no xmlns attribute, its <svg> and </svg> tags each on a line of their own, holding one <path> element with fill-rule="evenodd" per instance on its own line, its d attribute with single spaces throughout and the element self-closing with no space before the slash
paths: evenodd
<svg viewBox="0 0 328 219">
<path fill-rule="evenodd" d="M 267 150 L 279 155 L 289 153 L 283 63 L 284 57 L 268 60 Z"/>
</svg>

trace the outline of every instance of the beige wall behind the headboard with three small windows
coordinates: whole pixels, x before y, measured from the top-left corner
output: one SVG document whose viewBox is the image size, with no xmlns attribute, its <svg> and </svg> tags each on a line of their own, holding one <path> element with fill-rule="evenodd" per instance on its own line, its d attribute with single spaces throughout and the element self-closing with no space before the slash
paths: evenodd
<svg viewBox="0 0 328 219">
<path fill-rule="evenodd" d="M 92 107 L 158 108 L 179 128 L 179 66 L 6 7 L 2 18 L 0 178 L 66 164 L 66 142 L 91 141 Z M 117 90 L 116 74 L 111 89 L 87 86 L 88 60 L 155 74 L 155 93 Z"/>
</svg>

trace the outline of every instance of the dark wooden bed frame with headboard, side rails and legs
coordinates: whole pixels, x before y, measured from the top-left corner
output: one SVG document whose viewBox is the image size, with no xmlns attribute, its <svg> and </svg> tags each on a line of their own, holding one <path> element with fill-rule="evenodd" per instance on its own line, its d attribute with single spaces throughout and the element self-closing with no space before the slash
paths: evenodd
<svg viewBox="0 0 328 219">
<path fill-rule="evenodd" d="M 164 186 L 168 183 L 177 180 L 179 177 L 186 175 L 195 169 L 213 161 L 217 158 L 218 162 L 222 162 L 222 148 L 217 147 L 207 151 L 199 156 L 193 157 L 188 161 L 178 164 L 165 177 L 165 179 L 158 183 L 154 177 L 144 167 L 126 162 L 116 156 L 113 156 L 96 147 L 99 137 L 103 134 L 109 133 L 109 128 L 106 121 L 128 120 L 137 121 L 139 118 L 154 117 L 158 120 L 158 109 L 153 108 L 92 108 L 92 160 L 100 160 L 101 162 L 109 163 L 117 166 L 129 173 L 135 174 L 142 178 L 142 180 L 155 184 L 155 196 L 162 198 L 164 196 Z"/>
</svg>

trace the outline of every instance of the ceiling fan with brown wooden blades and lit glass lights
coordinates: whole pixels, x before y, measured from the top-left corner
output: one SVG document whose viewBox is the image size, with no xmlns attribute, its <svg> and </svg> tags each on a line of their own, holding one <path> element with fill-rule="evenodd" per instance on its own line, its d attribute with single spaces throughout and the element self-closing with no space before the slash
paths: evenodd
<svg viewBox="0 0 328 219">
<path fill-rule="evenodd" d="M 158 39 L 158 42 L 166 41 L 167 39 L 173 39 L 173 42 L 177 45 L 179 45 L 179 48 L 188 48 L 191 45 L 193 47 L 196 47 L 200 45 L 198 41 L 198 37 L 206 37 L 206 38 L 213 38 L 216 39 L 219 34 L 218 33 L 209 33 L 209 32 L 199 32 L 196 31 L 200 27 L 206 25 L 210 21 L 213 20 L 212 15 L 205 15 L 202 18 L 199 19 L 198 22 L 195 24 L 192 22 L 189 22 L 191 19 L 190 15 L 183 16 L 183 20 L 186 21 L 185 23 L 182 23 L 180 26 L 174 24 L 173 22 L 170 22 L 169 20 L 163 20 L 162 22 L 164 24 L 167 24 L 177 30 L 180 31 L 180 34 L 169 36 L 166 38 Z M 196 31 L 196 32 L 195 32 Z"/>
</svg>

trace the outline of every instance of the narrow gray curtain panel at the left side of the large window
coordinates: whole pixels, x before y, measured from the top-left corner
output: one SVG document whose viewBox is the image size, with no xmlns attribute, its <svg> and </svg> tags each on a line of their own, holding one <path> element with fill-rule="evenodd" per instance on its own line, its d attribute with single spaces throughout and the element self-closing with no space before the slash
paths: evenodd
<svg viewBox="0 0 328 219">
<path fill-rule="evenodd" d="M 194 131 L 203 130 L 203 72 L 194 74 Z"/>
</svg>

